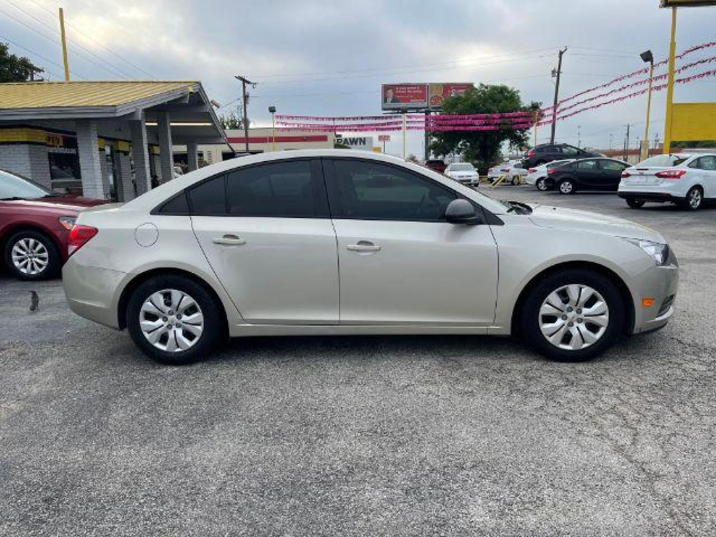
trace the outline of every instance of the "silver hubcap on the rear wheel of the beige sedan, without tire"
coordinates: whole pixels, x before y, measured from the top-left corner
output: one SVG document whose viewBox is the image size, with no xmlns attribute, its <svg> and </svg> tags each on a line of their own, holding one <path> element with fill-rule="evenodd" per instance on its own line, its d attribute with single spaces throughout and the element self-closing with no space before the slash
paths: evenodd
<svg viewBox="0 0 716 537">
<path fill-rule="evenodd" d="M 204 329 L 204 316 L 196 301 L 176 289 L 164 289 L 149 296 L 139 314 L 144 337 L 166 352 L 193 347 Z"/>
</svg>

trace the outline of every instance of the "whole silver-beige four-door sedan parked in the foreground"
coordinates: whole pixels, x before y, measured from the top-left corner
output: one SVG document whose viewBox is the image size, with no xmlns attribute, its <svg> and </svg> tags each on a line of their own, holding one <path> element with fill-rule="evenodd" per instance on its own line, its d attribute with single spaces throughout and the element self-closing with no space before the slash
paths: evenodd
<svg viewBox="0 0 716 537">
<path fill-rule="evenodd" d="M 499 202 L 390 155 L 296 150 L 190 172 L 79 213 L 70 308 L 169 364 L 226 334 L 521 334 L 588 359 L 672 316 L 664 237 Z"/>
</svg>

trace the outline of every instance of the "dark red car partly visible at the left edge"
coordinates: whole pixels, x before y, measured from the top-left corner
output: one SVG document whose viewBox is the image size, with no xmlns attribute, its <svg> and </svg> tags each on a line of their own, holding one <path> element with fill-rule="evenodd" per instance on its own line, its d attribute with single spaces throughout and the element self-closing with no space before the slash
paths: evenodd
<svg viewBox="0 0 716 537">
<path fill-rule="evenodd" d="M 101 203 L 0 170 L 0 251 L 10 274 L 24 280 L 57 276 L 77 214 Z"/>
</svg>

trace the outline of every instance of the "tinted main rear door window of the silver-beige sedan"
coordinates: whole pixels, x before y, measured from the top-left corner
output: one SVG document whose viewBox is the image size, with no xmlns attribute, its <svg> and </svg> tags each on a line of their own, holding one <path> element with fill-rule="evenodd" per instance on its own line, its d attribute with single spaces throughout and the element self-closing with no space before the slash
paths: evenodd
<svg viewBox="0 0 716 537">
<path fill-rule="evenodd" d="M 229 213 L 234 216 L 316 216 L 309 160 L 291 160 L 227 174 Z"/>
</svg>

